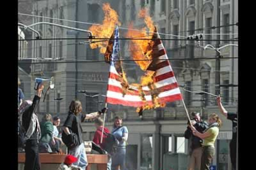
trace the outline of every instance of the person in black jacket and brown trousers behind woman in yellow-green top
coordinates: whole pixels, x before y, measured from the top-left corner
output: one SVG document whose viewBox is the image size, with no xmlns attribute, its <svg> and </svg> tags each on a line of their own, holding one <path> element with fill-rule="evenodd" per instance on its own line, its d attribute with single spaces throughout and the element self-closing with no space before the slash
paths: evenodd
<svg viewBox="0 0 256 170">
<path fill-rule="evenodd" d="M 192 116 L 194 118 L 192 119 L 191 123 L 198 132 L 203 132 L 205 129 L 207 129 L 208 123 L 200 118 L 200 113 L 192 112 Z M 188 170 L 194 170 L 195 168 L 200 169 L 203 141 L 199 137 L 194 136 L 189 126 L 187 126 L 184 137 L 189 139 L 190 144 L 190 159 Z"/>
</svg>

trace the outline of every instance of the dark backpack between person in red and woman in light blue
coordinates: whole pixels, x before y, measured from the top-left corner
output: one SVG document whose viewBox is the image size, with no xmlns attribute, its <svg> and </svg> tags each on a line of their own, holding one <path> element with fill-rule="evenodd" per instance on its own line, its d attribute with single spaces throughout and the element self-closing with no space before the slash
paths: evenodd
<svg viewBox="0 0 256 170">
<path fill-rule="evenodd" d="M 118 127 L 115 131 L 117 131 L 121 127 L 122 126 Z M 113 131 L 113 132 L 115 132 L 115 131 Z M 114 147 L 116 147 L 119 144 L 119 141 L 111 133 L 103 132 L 103 134 L 105 134 L 105 136 L 106 136 L 105 137 L 105 147 L 103 149 L 106 150 L 106 152 L 111 154 L 114 152 Z"/>
</svg>

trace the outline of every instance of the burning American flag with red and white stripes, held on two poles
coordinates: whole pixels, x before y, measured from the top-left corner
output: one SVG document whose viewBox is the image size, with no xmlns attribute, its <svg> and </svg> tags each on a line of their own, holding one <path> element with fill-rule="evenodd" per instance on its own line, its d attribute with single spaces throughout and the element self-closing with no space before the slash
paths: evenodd
<svg viewBox="0 0 256 170">
<path fill-rule="evenodd" d="M 152 39 L 148 41 L 147 55 L 150 61 L 145 69 L 145 75 L 141 78 L 140 84 L 128 84 L 122 63 L 119 59 L 119 31 L 118 27 L 114 30 L 114 42 L 110 59 L 110 71 L 108 79 L 108 89 L 106 102 L 114 105 L 124 105 L 150 109 L 164 107 L 166 102 L 182 100 L 182 94 L 174 76 L 173 69 L 168 61 L 166 51 L 160 36 L 154 30 Z M 139 111 L 137 110 L 137 111 Z"/>
</svg>

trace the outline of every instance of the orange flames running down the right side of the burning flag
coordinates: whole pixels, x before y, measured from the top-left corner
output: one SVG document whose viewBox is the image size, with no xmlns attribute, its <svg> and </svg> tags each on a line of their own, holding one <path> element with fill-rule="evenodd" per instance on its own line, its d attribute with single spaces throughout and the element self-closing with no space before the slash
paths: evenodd
<svg viewBox="0 0 256 170">
<path fill-rule="evenodd" d="M 158 95 L 160 94 L 160 91 L 158 91 L 154 84 L 155 71 L 147 70 L 148 66 L 151 63 L 150 60 L 153 59 L 152 54 L 154 44 L 154 42 L 152 40 L 148 40 L 148 38 L 152 38 L 153 32 L 155 30 L 155 25 L 153 24 L 153 20 L 151 19 L 151 17 L 148 15 L 147 9 L 140 10 L 139 18 L 143 18 L 147 26 L 142 28 L 141 31 L 129 30 L 126 36 L 134 38 L 132 39 L 132 41 L 130 41 L 129 50 L 132 54 L 132 59 L 137 60 L 135 61 L 137 65 L 139 65 L 139 67 L 145 71 L 145 75 L 140 78 L 140 84 L 133 84 L 134 86 L 139 86 L 138 89 L 140 92 L 140 98 L 142 99 L 142 101 L 145 102 L 145 105 L 143 107 L 138 107 L 136 110 L 139 114 L 142 114 L 142 111 L 145 109 L 165 107 L 166 103 L 161 103 L 159 100 Z M 129 28 L 133 28 L 132 23 L 129 25 Z M 149 31 L 150 33 L 147 33 L 147 31 Z M 150 89 L 149 92 L 151 95 L 152 103 L 148 103 L 145 100 L 145 94 L 142 90 L 143 86 L 147 86 Z"/>
</svg>

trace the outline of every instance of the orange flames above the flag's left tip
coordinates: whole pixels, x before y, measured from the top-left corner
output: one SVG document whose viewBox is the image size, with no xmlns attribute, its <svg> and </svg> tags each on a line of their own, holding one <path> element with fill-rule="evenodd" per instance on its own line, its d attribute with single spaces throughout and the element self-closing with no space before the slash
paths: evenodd
<svg viewBox="0 0 256 170">
<path fill-rule="evenodd" d="M 95 38 L 110 38 L 115 26 L 121 25 L 121 23 L 118 21 L 117 12 L 111 8 L 109 3 L 104 3 L 102 9 L 105 14 L 103 24 L 93 25 L 89 28 L 89 30 L 92 31 L 92 34 L 95 36 Z M 106 52 L 107 46 L 108 41 L 98 41 L 97 39 L 90 43 L 90 47 L 92 49 L 99 47 L 102 54 Z"/>
</svg>

